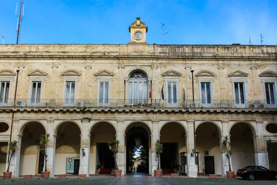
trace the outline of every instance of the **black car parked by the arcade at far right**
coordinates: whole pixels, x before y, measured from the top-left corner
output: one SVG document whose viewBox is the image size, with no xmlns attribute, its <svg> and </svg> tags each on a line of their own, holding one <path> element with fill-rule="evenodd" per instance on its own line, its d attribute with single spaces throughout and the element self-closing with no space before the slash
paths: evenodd
<svg viewBox="0 0 277 185">
<path fill-rule="evenodd" d="M 262 166 L 246 166 L 237 173 L 238 177 L 243 179 L 275 179 L 277 180 L 277 172 L 269 170 Z"/>
</svg>

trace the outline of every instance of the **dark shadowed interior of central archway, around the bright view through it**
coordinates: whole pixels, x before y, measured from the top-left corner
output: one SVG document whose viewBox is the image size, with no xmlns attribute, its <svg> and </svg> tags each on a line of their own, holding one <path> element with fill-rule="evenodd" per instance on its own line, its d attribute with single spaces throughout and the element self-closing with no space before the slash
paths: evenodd
<svg viewBox="0 0 277 185">
<path fill-rule="evenodd" d="M 126 136 L 126 172 L 132 173 L 133 169 L 133 155 L 135 148 L 143 148 L 143 155 L 141 155 L 142 161 L 141 165 L 137 168 L 136 172 L 138 173 L 148 173 L 149 172 L 149 155 L 148 155 L 148 132 L 145 128 L 140 126 L 132 127 Z"/>
</svg>

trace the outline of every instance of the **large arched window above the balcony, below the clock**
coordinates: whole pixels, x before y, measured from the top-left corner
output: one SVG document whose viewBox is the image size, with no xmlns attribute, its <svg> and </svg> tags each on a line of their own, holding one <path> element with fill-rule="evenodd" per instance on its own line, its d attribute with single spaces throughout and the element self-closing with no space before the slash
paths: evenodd
<svg viewBox="0 0 277 185">
<path fill-rule="evenodd" d="M 136 71 L 129 76 L 129 104 L 148 103 L 148 78 L 145 73 Z"/>
</svg>

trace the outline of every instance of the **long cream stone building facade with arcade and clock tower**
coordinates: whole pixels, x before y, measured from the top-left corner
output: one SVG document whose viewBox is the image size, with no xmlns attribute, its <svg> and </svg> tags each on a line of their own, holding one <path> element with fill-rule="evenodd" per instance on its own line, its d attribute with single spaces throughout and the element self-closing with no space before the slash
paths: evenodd
<svg viewBox="0 0 277 185">
<path fill-rule="evenodd" d="M 224 136 L 231 138 L 233 170 L 276 169 L 267 141 L 276 146 L 277 46 L 148 44 L 147 31 L 136 19 L 128 44 L 1 45 L 0 172 L 8 142 L 17 140 L 12 175 L 37 175 L 45 133 L 51 177 L 69 173 L 69 158 L 74 173 L 95 174 L 114 139 L 123 175 L 136 142 L 153 175 L 157 139 L 165 147 L 162 168 L 224 175 Z"/>
</svg>

